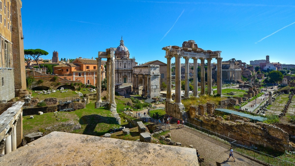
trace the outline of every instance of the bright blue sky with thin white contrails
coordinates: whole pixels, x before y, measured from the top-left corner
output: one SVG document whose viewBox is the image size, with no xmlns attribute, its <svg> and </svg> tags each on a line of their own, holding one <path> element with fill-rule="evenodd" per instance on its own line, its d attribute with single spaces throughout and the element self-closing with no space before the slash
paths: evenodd
<svg viewBox="0 0 295 166">
<path fill-rule="evenodd" d="M 138 63 L 166 63 L 163 47 L 195 40 L 222 51 L 223 61 L 269 55 L 295 64 L 295 1 L 23 0 L 22 27 L 24 48 L 47 51 L 44 59 L 54 50 L 59 58 L 95 58 L 122 35 Z"/>
</svg>

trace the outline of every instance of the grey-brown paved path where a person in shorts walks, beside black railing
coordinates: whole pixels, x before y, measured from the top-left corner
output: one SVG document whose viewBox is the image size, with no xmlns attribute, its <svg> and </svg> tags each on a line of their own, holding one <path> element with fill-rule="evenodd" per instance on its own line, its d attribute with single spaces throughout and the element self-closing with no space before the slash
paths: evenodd
<svg viewBox="0 0 295 166">
<path fill-rule="evenodd" d="M 232 157 L 230 160 L 227 160 L 227 157 L 229 156 L 229 145 L 216 141 L 189 128 L 177 128 L 176 124 L 171 124 L 170 133 L 171 140 L 180 142 L 182 146 L 186 147 L 193 145 L 193 147 L 198 149 L 201 154 L 200 157 L 213 165 L 216 165 L 216 162 L 222 164 L 226 163 L 231 166 L 261 165 L 236 153 L 234 153 L 235 162 L 233 162 Z"/>
</svg>

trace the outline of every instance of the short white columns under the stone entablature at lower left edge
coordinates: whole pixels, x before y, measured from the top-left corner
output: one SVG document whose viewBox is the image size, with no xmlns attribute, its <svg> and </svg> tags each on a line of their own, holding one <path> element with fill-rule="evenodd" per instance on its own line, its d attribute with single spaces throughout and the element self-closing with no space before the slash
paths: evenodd
<svg viewBox="0 0 295 166">
<path fill-rule="evenodd" d="M 5 135 L 5 141 L 0 143 L 0 154 L 7 154 L 17 149 L 17 121 Z"/>
</svg>

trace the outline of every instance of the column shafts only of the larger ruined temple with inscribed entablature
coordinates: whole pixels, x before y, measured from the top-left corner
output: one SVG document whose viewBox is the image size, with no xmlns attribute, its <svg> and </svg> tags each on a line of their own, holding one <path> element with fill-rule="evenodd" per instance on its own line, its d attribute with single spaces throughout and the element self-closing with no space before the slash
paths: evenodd
<svg viewBox="0 0 295 166">
<path fill-rule="evenodd" d="M 172 95 L 171 95 L 171 58 L 175 57 L 175 104 L 182 104 L 181 103 L 181 62 L 180 54 L 175 54 L 173 56 L 166 55 L 167 58 L 167 96 L 166 101 L 171 102 Z M 184 56 L 185 59 L 185 93 L 184 97 L 189 98 L 189 56 Z M 212 58 L 197 58 L 192 57 L 194 60 L 194 91 L 193 96 L 198 97 L 198 59 L 201 60 L 201 93 L 200 95 L 205 94 L 205 59 L 207 60 L 207 94 L 212 95 L 212 68 L 211 68 L 211 60 Z M 217 94 L 222 95 L 222 58 L 217 59 Z"/>
</svg>

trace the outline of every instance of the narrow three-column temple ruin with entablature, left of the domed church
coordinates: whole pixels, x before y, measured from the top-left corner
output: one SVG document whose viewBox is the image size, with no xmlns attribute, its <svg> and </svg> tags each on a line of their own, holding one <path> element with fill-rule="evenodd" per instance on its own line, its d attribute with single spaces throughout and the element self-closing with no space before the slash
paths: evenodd
<svg viewBox="0 0 295 166">
<path fill-rule="evenodd" d="M 116 48 L 107 48 L 105 52 L 98 52 L 98 58 L 96 58 L 97 61 L 97 91 L 96 91 L 96 102 L 95 102 L 95 108 L 99 108 L 106 103 L 109 103 L 109 109 L 111 111 L 117 111 L 117 104 L 115 101 L 115 68 L 114 68 L 114 51 L 116 51 Z M 101 100 L 101 81 L 99 79 L 101 78 L 101 58 L 107 58 L 106 61 L 106 78 L 107 78 L 107 85 L 106 85 L 106 101 Z"/>
</svg>

